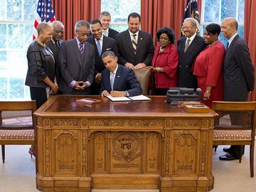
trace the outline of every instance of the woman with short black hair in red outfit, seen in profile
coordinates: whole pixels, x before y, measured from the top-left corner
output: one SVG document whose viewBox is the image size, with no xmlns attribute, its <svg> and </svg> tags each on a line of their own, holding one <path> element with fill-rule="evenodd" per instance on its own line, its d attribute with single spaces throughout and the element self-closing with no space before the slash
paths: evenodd
<svg viewBox="0 0 256 192">
<path fill-rule="evenodd" d="M 197 76 L 198 87 L 202 89 L 201 101 L 211 107 L 212 101 L 223 100 L 223 60 L 225 47 L 218 40 L 220 26 L 210 23 L 204 34 L 208 46 L 196 58 L 193 74 Z"/>
</svg>

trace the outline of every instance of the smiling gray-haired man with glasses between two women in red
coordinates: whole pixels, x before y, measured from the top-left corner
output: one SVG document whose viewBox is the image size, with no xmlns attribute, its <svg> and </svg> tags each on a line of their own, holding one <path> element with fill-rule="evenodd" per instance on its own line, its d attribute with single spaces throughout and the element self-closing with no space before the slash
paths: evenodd
<svg viewBox="0 0 256 192">
<path fill-rule="evenodd" d="M 178 87 L 197 88 L 192 65 L 196 56 L 207 46 L 204 39 L 196 34 L 197 23 L 195 18 L 185 18 L 183 22 L 185 37 L 178 40 Z"/>
</svg>

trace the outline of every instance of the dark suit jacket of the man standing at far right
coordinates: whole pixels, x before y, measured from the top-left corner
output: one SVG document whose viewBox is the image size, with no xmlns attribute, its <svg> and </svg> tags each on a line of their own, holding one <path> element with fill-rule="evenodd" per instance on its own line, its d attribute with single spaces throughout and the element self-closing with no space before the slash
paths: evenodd
<svg viewBox="0 0 256 192">
<path fill-rule="evenodd" d="M 254 71 L 248 46 L 235 36 L 224 58 L 224 100 L 247 101 L 248 92 L 255 85 Z"/>
</svg>

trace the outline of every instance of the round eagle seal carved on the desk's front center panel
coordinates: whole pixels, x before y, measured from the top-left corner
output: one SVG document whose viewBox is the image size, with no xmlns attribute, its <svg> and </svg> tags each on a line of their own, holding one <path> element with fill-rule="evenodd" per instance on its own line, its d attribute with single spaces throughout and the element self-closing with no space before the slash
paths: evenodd
<svg viewBox="0 0 256 192">
<path fill-rule="evenodd" d="M 124 159 L 127 162 L 130 162 L 136 159 L 138 156 L 141 156 L 139 148 L 141 142 L 136 134 L 131 132 L 120 132 L 112 139 L 112 157 L 115 160 Z"/>
</svg>

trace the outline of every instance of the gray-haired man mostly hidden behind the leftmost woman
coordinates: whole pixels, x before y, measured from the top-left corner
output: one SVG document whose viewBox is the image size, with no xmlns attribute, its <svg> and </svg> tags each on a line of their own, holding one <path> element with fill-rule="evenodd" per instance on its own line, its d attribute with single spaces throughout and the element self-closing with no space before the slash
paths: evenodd
<svg viewBox="0 0 256 192">
<path fill-rule="evenodd" d="M 60 70 L 58 69 L 58 53 L 63 43 L 64 26 L 63 23 L 61 23 L 60 21 L 53 21 L 53 23 L 51 23 L 51 26 L 53 28 L 53 38 L 50 38 L 50 41 L 48 41 L 46 45 L 53 52 L 53 57 L 55 60 L 55 76 L 57 84 L 59 84 Z"/>
</svg>

